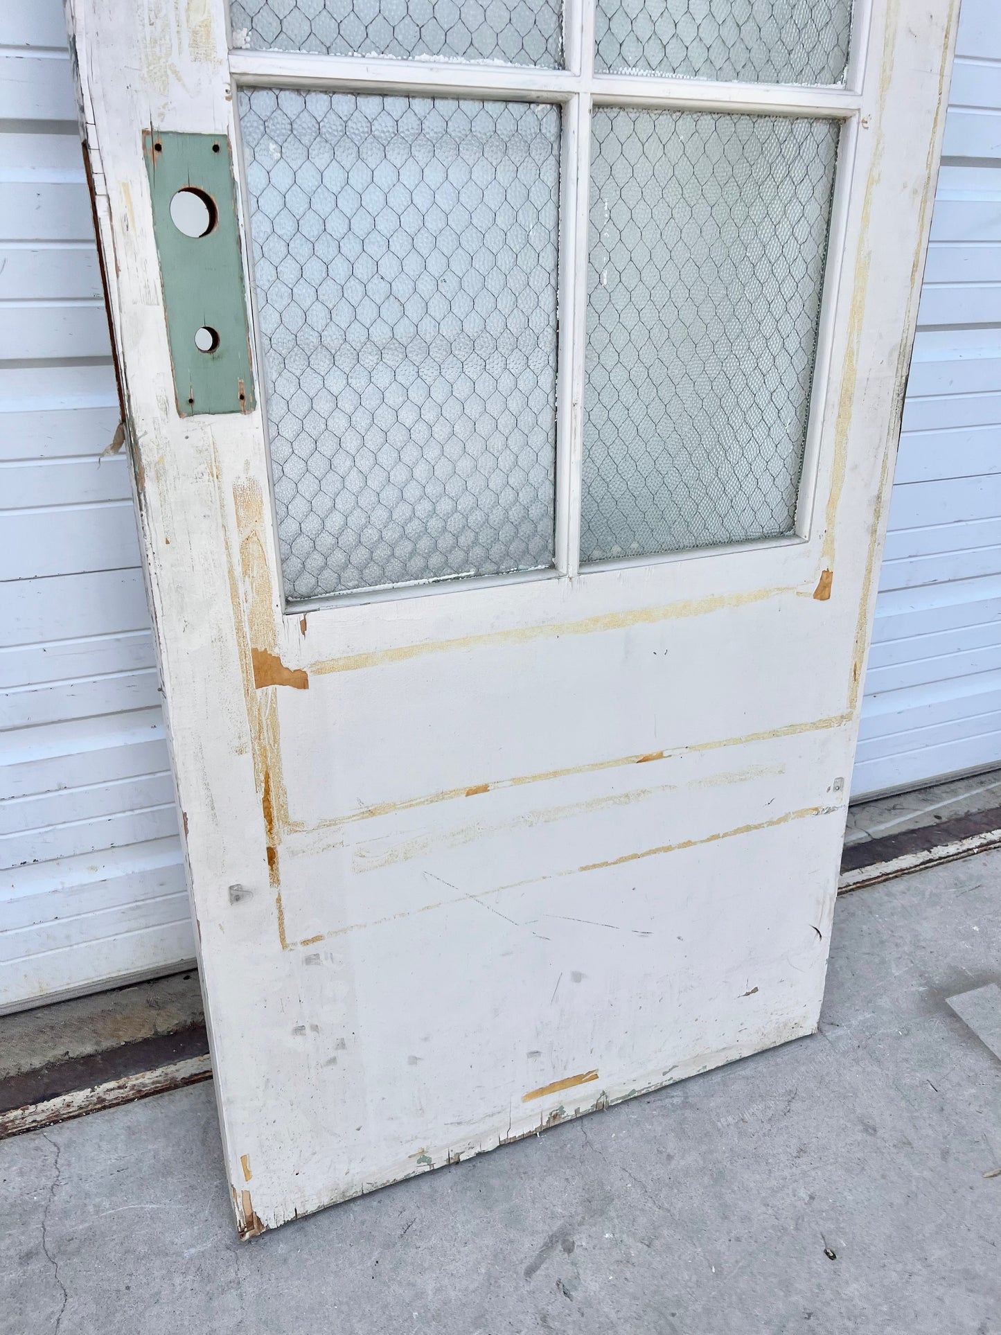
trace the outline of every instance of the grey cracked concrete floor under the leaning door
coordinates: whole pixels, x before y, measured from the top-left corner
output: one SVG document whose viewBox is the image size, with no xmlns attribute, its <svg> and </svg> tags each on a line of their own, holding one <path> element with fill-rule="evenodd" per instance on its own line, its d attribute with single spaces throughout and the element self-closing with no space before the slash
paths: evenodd
<svg viewBox="0 0 1001 1335">
<path fill-rule="evenodd" d="M 211 1084 L 0 1144 L 3 1335 L 998 1335 L 1001 850 L 838 904 L 819 1035 L 238 1243 Z"/>
</svg>

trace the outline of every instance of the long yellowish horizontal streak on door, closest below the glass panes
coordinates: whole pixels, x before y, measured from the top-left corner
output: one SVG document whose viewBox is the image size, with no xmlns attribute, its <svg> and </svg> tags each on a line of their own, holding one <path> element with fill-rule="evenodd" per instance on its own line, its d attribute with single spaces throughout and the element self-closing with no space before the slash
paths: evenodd
<svg viewBox="0 0 1001 1335">
<path fill-rule="evenodd" d="M 749 593 L 717 594 L 709 598 L 691 598 L 685 602 L 671 602 L 663 607 L 634 607 L 629 611 L 609 611 L 601 617 L 585 617 L 582 621 L 561 621 L 543 626 L 517 626 L 511 630 L 494 630 L 480 635 L 462 635 L 456 639 L 435 639 L 422 645 L 398 645 L 395 649 L 376 649 L 364 654 L 347 654 L 343 658 L 326 658 L 310 665 L 312 676 L 326 676 L 336 672 L 359 672 L 364 668 L 383 668 L 388 663 L 407 662 L 410 658 L 423 658 L 427 654 L 446 654 L 468 649 L 488 649 L 499 645 L 523 645 L 533 639 L 558 639 L 561 635 L 594 635 L 607 630 L 626 630 L 629 626 L 657 625 L 661 621 L 678 621 L 685 617 L 705 617 L 713 611 L 729 607 L 747 607 L 769 598 L 795 594 L 789 589 L 753 589 Z"/>
</svg>

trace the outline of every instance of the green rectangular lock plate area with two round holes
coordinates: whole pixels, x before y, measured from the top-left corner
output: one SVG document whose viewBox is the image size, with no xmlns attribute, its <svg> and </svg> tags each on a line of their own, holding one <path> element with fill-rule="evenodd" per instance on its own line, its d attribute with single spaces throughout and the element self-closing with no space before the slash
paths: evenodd
<svg viewBox="0 0 1001 1335">
<path fill-rule="evenodd" d="M 250 413 L 254 376 L 230 140 L 147 129 L 143 151 L 178 411 Z"/>
</svg>

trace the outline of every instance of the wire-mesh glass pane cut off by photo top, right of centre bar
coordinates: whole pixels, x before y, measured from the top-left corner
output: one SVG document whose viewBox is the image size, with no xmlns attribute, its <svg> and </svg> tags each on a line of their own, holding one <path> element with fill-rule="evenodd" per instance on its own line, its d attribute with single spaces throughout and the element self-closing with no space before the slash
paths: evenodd
<svg viewBox="0 0 1001 1335">
<path fill-rule="evenodd" d="M 598 0 L 595 68 L 834 84 L 850 27 L 852 0 Z"/>
</svg>

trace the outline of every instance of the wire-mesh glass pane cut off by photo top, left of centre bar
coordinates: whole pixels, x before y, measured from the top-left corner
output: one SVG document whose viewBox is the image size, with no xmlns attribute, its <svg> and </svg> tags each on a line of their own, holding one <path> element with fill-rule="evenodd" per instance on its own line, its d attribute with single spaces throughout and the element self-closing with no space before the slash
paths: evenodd
<svg viewBox="0 0 1001 1335">
<path fill-rule="evenodd" d="M 555 69 L 559 0 L 230 0 L 234 44 L 332 56 L 442 56 Z"/>
</svg>

